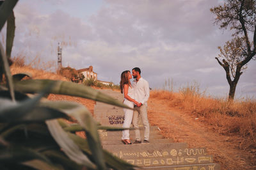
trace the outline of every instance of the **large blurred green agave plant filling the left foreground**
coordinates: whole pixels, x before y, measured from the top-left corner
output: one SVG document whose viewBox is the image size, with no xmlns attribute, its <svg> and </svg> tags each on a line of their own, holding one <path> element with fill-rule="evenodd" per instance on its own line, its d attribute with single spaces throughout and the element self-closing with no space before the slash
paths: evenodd
<svg viewBox="0 0 256 170">
<path fill-rule="evenodd" d="M 9 0 L 0 6 L 0 30 L 16 3 Z M 10 26 L 14 25 L 12 22 Z M 11 39 L 13 37 L 14 32 Z M 120 129 L 100 127 L 83 105 L 51 102 L 44 96 L 54 93 L 128 108 L 126 105 L 95 89 L 72 82 L 22 81 L 29 75 L 11 75 L 10 56 L 6 56 L 1 43 L 0 50 L 1 68 L 6 78 L 0 84 L 0 169 L 132 169 L 131 164 L 113 157 L 100 145 L 98 129 Z M 75 126 L 65 121 L 71 116 L 78 121 Z M 76 131 L 84 131 L 86 139 L 75 135 Z"/>
</svg>

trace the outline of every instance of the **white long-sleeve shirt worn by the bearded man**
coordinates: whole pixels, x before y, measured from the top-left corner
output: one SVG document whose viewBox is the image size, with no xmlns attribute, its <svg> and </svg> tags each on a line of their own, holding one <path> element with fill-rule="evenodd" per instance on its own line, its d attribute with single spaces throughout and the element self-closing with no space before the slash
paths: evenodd
<svg viewBox="0 0 256 170">
<path fill-rule="evenodd" d="M 138 82 L 134 79 L 132 87 L 134 88 L 134 99 L 143 105 L 147 104 L 149 98 L 148 82 L 142 77 Z"/>
</svg>

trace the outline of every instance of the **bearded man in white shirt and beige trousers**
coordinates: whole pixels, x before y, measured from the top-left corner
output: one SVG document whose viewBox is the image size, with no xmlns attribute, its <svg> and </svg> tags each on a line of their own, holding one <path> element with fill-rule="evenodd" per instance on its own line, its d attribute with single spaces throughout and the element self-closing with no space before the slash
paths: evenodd
<svg viewBox="0 0 256 170">
<path fill-rule="evenodd" d="M 140 105 L 134 105 L 132 125 L 135 130 L 136 140 L 134 144 L 141 143 L 140 129 L 139 129 L 139 116 L 144 126 L 144 141 L 143 143 L 149 143 L 149 123 L 147 114 L 147 100 L 149 97 L 148 82 L 140 75 L 141 70 L 138 67 L 132 69 L 132 76 L 134 81 L 132 82 L 132 88 L 134 88 L 134 99 L 139 102 Z"/>
</svg>

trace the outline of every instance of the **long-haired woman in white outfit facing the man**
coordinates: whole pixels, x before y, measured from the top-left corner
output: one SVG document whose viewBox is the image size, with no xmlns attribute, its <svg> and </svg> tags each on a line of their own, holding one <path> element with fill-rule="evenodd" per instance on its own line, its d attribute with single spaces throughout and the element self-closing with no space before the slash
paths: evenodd
<svg viewBox="0 0 256 170">
<path fill-rule="evenodd" d="M 126 70 L 121 74 L 120 89 L 121 93 L 124 93 L 124 104 L 133 108 L 134 104 L 139 105 L 139 103 L 134 100 L 134 89 L 132 88 L 130 79 L 132 79 L 131 72 Z M 133 110 L 124 109 L 124 124 L 123 128 L 130 128 L 132 122 Z M 129 137 L 129 129 L 123 130 L 122 143 L 132 144 Z"/>
</svg>

